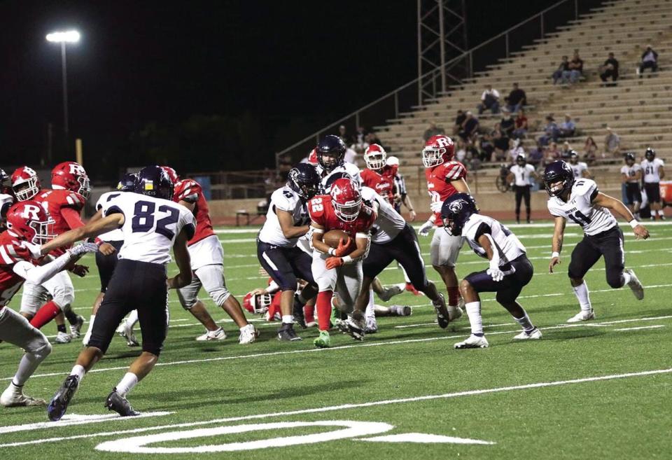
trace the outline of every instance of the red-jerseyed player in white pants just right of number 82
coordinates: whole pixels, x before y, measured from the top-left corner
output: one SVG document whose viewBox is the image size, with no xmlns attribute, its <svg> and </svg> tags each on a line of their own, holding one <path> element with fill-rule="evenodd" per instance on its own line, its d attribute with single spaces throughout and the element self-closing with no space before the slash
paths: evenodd
<svg viewBox="0 0 672 460">
<path fill-rule="evenodd" d="M 177 291 L 178 298 L 184 309 L 189 310 L 207 329 L 206 333 L 196 340 L 223 340 L 226 338 L 224 328 L 217 327 L 215 321 L 199 300 L 201 287 L 210 295 L 215 305 L 221 307 L 236 323 L 240 334 L 239 344 L 250 344 L 259 336 L 259 331 L 248 323 L 238 300 L 226 288 L 224 281 L 224 251 L 217 235 L 212 228 L 208 203 L 200 184 L 193 179 L 179 181 L 174 169 L 163 167 L 174 182 L 173 201 L 186 207 L 196 216 L 196 232 L 188 242 L 191 258 L 193 279 L 189 286 Z"/>
</svg>

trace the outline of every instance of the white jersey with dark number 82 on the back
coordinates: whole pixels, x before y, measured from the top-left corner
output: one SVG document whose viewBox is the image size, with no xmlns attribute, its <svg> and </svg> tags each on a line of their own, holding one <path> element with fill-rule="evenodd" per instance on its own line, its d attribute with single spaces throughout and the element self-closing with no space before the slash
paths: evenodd
<svg viewBox="0 0 672 460">
<path fill-rule="evenodd" d="M 104 202 L 102 209 L 103 216 L 124 215 L 120 259 L 167 264 L 179 232 L 184 228 L 190 239 L 196 231 L 196 221 L 189 209 L 162 198 L 124 192 Z"/>
</svg>

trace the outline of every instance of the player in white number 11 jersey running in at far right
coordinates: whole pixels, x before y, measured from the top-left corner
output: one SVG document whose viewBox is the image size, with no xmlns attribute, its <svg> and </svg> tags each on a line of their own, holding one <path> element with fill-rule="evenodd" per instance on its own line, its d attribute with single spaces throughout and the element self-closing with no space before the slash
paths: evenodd
<svg viewBox="0 0 672 460">
<path fill-rule="evenodd" d="M 584 234 L 583 239 L 572 251 L 568 267 L 569 280 L 579 300 L 581 311 L 567 322 L 576 323 L 595 318 L 588 286 L 583 277 L 602 256 L 609 286 L 617 289 L 627 284 L 635 297 L 642 300 L 644 288 L 635 272 L 625 270 L 623 232 L 609 210 L 624 218 L 638 239 L 649 237 L 644 225 L 633 217 L 621 201 L 601 193 L 597 184 L 591 179 L 576 181 L 572 169 L 562 160 L 552 162 L 546 167 L 544 183 L 550 197 L 548 210 L 555 218 L 549 272 L 553 272 L 554 267 L 560 263 L 567 219 L 580 225 Z"/>
</svg>

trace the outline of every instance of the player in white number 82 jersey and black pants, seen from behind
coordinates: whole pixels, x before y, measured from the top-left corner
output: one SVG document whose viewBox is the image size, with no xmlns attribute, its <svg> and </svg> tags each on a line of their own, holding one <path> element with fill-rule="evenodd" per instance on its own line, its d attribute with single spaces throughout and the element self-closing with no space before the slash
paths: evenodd
<svg viewBox="0 0 672 460">
<path fill-rule="evenodd" d="M 126 394 L 158 361 L 168 330 L 168 289 L 179 289 L 191 282 L 187 242 L 196 230 L 193 213 L 172 201 L 173 183 L 161 167 L 141 169 L 135 191 L 106 202 L 102 219 L 65 232 L 42 246 L 45 253 L 116 228 L 124 234 L 120 260 L 98 309 L 89 344 L 47 407 L 52 421 L 63 417 L 85 373 L 104 356 L 115 328 L 132 309 L 137 309 L 140 317 L 142 353 L 109 394 L 105 405 L 122 417 L 138 415 Z M 167 278 L 171 248 L 179 273 Z"/>
</svg>

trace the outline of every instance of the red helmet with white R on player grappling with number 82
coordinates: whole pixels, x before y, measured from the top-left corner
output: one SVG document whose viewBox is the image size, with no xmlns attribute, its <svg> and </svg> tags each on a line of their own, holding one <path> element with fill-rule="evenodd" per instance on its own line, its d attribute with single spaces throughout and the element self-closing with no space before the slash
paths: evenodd
<svg viewBox="0 0 672 460">
<path fill-rule="evenodd" d="M 34 200 L 15 203 L 7 211 L 7 230 L 13 237 L 33 244 L 45 244 L 56 237 L 53 228 L 54 220 Z"/>
</svg>

